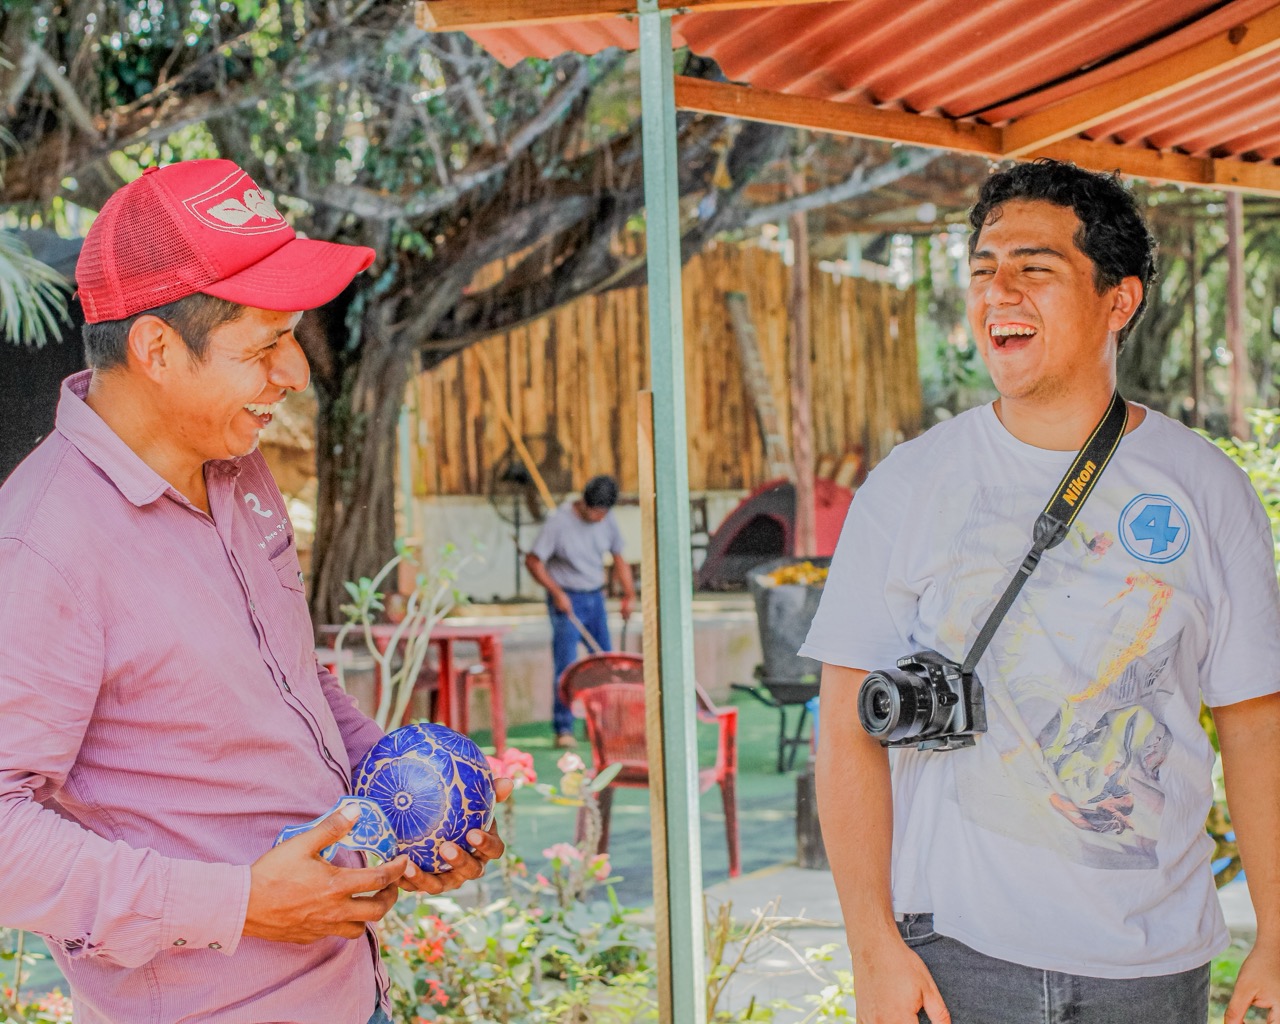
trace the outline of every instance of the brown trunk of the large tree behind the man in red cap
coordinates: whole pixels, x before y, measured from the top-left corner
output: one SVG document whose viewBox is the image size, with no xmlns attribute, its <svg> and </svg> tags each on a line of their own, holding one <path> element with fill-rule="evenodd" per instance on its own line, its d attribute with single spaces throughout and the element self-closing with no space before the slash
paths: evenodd
<svg viewBox="0 0 1280 1024">
<path fill-rule="evenodd" d="M 360 347 L 346 353 L 337 393 L 316 381 L 311 613 L 317 623 L 340 622 L 343 582 L 374 576 L 396 553 L 396 425 L 410 367 L 410 353 L 389 326 L 397 305 L 365 310 Z"/>
</svg>

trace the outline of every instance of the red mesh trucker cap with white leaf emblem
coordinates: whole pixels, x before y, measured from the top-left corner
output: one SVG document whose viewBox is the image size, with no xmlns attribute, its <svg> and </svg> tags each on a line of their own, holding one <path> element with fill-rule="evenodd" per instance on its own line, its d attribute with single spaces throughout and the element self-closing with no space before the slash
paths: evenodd
<svg viewBox="0 0 1280 1024">
<path fill-rule="evenodd" d="M 335 298 L 372 261 L 365 246 L 298 238 L 230 160 L 184 160 L 147 169 L 106 201 L 76 284 L 91 324 L 196 292 L 293 312 Z"/>
</svg>

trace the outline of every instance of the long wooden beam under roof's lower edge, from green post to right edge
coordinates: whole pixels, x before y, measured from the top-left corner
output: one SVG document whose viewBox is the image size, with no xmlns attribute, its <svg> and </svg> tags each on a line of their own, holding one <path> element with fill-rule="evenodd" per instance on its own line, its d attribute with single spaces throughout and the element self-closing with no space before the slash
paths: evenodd
<svg viewBox="0 0 1280 1024">
<path fill-rule="evenodd" d="M 681 110 L 810 128 L 815 132 L 932 146 L 986 156 L 989 160 L 1009 159 L 1001 145 L 1001 131 L 984 124 L 831 100 L 810 100 L 701 78 L 676 77 L 676 106 Z M 1020 159 L 1037 156 L 1070 160 L 1089 170 L 1116 170 L 1129 178 L 1280 196 L 1280 166 L 1271 163 L 1213 160 L 1084 138 L 1064 140 L 1024 154 Z"/>
</svg>

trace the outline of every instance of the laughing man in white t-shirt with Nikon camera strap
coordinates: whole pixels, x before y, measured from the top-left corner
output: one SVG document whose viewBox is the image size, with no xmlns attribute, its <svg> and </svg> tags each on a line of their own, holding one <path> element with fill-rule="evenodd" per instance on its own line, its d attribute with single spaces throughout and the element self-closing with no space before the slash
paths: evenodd
<svg viewBox="0 0 1280 1024">
<path fill-rule="evenodd" d="M 1228 933 L 1203 700 L 1258 920 L 1226 1020 L 1256 1005 L 1275 1024 L 1267 517 L 1221 452 L 1133 403 L 1110 462 L 1068 474 L 1155 294 L 1155 243 L 1116 178 L 1014 166 L 970 221 L 969 324 L 1000 397 L 872 472 L 801 649 L 824 662 L 818 797 L 858 1020 L 1204 1024 Z M 901 746 L 891 771 L 859 724 L 861 682 L 914 652 L 965 659 L 1060 481 L 1084 499 L 977 663 L 986 730 L 959 749 Z"/>
</svg>

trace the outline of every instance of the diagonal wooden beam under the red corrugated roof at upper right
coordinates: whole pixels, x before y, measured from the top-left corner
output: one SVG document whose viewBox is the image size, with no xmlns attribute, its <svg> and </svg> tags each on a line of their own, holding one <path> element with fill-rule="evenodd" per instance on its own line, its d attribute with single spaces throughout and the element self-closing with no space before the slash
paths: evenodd
<svg viewBox="0 0 1280 1024">
<path fill-rule="evenodd" d="M 1011 122 L 1005 127 L 1005 156 L 1025 156 L 1071 138 L 1276 49 L 1280 5 L 1155 64 Z"/>
</svg>

